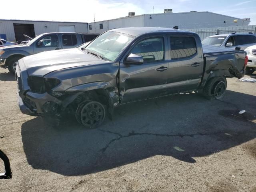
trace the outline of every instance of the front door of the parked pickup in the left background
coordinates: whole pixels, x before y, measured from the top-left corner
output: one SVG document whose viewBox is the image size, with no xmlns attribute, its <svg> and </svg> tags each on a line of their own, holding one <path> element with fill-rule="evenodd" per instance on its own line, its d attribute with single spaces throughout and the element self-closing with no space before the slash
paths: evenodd
<svg viewBox="0 0 256 192">
<path fill-rule="evenodd" d="M 57 34 L 46 34 L 33 44 L 34 54 L 43 52 L 58 50 L 61 48 L 60 39 Z"/>
</svg>

